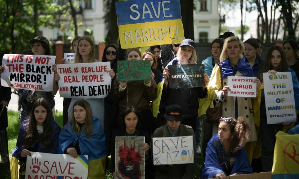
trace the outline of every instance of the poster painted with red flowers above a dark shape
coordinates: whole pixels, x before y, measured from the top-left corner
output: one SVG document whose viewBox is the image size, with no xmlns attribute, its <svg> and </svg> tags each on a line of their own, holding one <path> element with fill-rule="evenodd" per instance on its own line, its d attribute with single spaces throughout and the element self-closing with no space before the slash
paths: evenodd
<svg viewBox="0 0 299 179">
<path fill-rule="evenodd" d="M 115 177 L 117 179 L 145 178 L 145 137 L 116 137 Z"/>
</svg>

